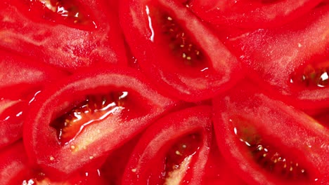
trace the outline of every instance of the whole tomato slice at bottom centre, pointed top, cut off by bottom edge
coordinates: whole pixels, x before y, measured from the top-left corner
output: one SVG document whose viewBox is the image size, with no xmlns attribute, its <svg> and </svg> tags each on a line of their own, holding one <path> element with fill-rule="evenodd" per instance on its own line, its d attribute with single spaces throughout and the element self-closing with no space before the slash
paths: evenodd
<svg viewBox="0 0 329 185">
<path fill-rule="evenodd" d="M 192 107 L 164 116 L 143 132 L 122 184 L 200 184 L 211 136 L 211 107 Z"/>
</svg>

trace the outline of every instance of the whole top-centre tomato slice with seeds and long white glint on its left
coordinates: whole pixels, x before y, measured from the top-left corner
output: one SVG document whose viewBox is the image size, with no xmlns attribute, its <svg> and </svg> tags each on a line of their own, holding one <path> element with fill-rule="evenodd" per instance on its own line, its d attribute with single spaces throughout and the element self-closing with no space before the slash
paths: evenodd
<svg viewBox="0 0 329 185">
<path fill-rule="evenodd" d="M 243 74 L 236 57 L 179 2 L 120 1 L 120 22 L 141 69 L 181 100 L 208 99 Z"/>
</svg>

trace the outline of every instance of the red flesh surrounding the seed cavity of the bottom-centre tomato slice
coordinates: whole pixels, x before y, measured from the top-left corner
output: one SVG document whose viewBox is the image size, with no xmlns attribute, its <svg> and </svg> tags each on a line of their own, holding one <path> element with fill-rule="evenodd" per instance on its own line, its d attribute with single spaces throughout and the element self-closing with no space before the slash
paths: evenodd
<svg viewBox="0 0 329 185">
<path fill-rule="evenodd" d="M 208 106 L 190 107 L 168 114 L 143 132 L 131 153 L 122 184 L 160 184 L 165 153 L 179 137 L 194 132 L 200 132 L 202 142 L 191 164 L 183 167 L 187 169 L 179 182 L 201 184 L 212 140 L 211 107 Z"/>
</svg>

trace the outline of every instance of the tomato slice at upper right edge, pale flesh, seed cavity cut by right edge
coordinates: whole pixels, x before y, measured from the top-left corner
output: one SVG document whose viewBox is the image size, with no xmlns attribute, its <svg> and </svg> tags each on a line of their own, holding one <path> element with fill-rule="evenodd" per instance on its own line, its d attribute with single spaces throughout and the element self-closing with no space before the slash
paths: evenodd
<svg viewBox="0 0 329 185">
<path fill-rule="evenodd" d="M 276 29 L 228 36 L 248 75 L 302 109 L 328 107 L 329 6 Z M 232 32 L 231 32 L 232 33 Z"/>
</svg>

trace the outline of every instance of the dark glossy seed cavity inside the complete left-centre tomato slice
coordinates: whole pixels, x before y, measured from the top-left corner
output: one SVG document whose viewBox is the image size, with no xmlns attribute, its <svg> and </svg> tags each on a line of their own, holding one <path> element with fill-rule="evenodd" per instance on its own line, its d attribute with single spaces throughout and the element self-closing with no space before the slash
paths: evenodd
<svg viewBox="0 0 329 185">
<path fill-rule="evenodd" d="M 87 125 L 96 124 L 124 109 L 128 92 L 112 92 L 107 95 L 88 95 L 69 111 L 56 118 L 51 127 L 57 131 L 60 144 L 68 144 L 75 139 Z M 98 134 L 101 130 L 96 130 Z M 71 145 L 74 150 L 76 147 Z"/>
</svg>

